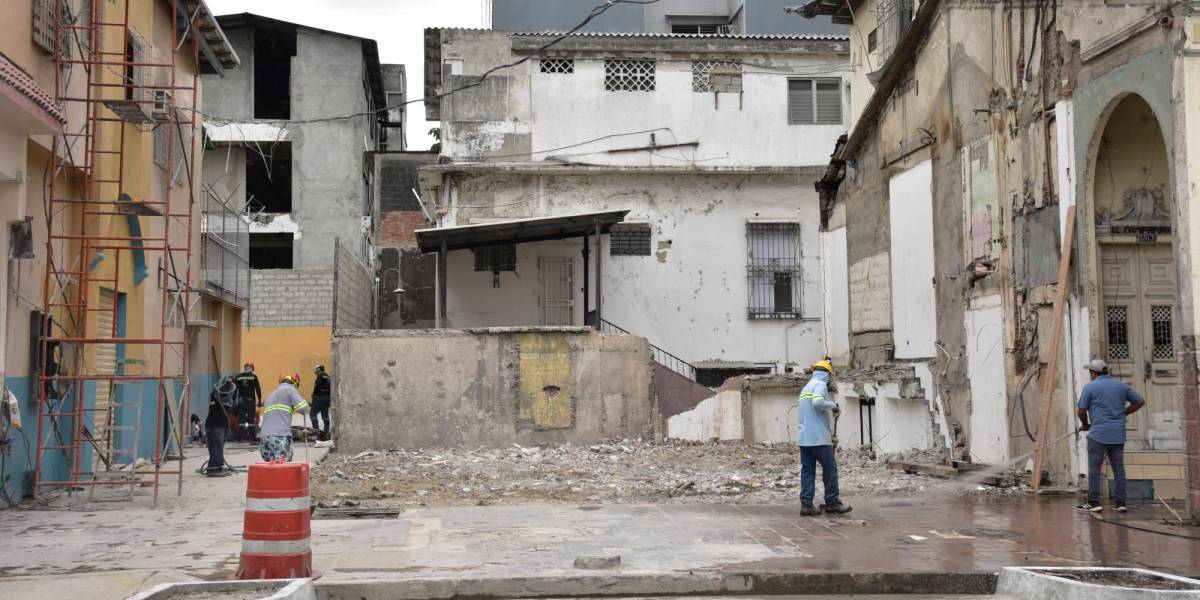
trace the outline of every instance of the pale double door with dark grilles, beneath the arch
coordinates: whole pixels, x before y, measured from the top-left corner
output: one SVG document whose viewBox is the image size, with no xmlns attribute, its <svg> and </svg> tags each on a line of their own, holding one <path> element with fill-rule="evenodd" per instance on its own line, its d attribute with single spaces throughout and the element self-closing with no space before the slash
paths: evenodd
<svg viewBox="0 0 1200 600">
<path fill-rule="evenodd" d="M 1182 450 L 1175 260 L 1166 244 L 1104 245 L 1100 281 L 1112 376 L 1146 397 L 1127 422 L 1128 450 Z"/>
</svg>

